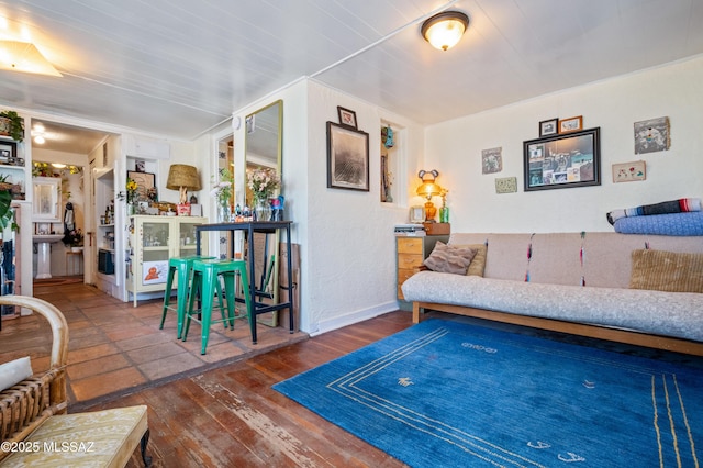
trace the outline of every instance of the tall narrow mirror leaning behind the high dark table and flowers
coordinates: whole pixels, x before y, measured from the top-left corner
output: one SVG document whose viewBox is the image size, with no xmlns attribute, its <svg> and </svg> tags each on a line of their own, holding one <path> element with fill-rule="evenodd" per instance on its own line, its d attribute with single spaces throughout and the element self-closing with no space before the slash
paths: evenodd
<svg viewBox="0 0 703 468">
<path fill-rule="evenodd" d="M 278 100 L 259 109 L 245 119 L 245 161 L 246 174 L 257 167 L 270 167 L 276 169 L 282 179 L 283 172 L 283 101 Z M 279 189 L 282 194 L 282 190 Z M 246 204 L 254 205 L 252 191 L 246 188 Z M 253 281 L 256 290 L 260 292 L 258 300 L 278 303 L 278 249 L 279 235 L 255 234 L 254 248 L 257 277 Z M 276 313 L 276 312 L 274 312 Z M 269 320 L 265 314 L 259 321 Z M 271 317 L 276 322 L 277 317 Z"/>
</svg>

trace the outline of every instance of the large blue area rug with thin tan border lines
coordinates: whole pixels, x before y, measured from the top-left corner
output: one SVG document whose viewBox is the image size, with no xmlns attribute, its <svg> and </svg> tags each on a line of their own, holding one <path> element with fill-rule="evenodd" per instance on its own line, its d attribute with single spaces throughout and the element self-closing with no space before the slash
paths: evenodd
<svg viewBox="0 0 703 468">
<path fill-rule="evenodd" d="M 427 320 L 274 387 L 413 467 L 699 467 L 698 366 Z"/>
</svg>

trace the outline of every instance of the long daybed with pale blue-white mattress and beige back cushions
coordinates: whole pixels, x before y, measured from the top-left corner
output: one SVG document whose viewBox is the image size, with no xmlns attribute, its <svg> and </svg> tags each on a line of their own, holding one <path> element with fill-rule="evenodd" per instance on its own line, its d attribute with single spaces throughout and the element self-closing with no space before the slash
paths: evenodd
<svg viewBox="0 0 703 468">
<path fill-rule="evenodd" d="M 679 254 L 703 254 L 703 237 L 455 233 L 449 245 L 487 246 L 482 276 L 413 275 L 402 290 L 415 323 L 429 309 L 703 355 L 703 293 L 671 292 L 702 283 L 703 255 Z"/>
</svg>

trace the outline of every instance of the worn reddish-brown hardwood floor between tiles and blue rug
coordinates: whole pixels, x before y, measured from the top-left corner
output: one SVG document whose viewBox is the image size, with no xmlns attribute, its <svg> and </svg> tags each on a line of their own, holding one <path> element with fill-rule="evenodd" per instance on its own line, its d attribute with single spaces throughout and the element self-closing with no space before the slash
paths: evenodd
<svg viewBox="0 0 703 468">
<path fill-rule="evenodd" d="M 391 312 L 88 411 L 146 404 L 155 467 L 403 467 L 271 386 L 411 325 Z"/>
</svg>

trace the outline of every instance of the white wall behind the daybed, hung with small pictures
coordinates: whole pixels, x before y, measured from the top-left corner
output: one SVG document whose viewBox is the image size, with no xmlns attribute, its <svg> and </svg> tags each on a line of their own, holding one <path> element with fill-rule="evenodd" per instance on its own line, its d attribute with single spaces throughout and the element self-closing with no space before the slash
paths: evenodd
<svg viewBox="0 0 703 468">
<path fill-rule="evenodd" d="M 453 232 L 613 231 L 611 210 L 702 197 L 701 82 L 696 57 L 428 127 L 425 166 L 450 190 Z M 523 141 L 539 136 L 539 121 L 574 115 L 601 127 L 601 186 L 524 192 Z M 670 119 L 671 148 L 635 155 L 634 122 L 660 116 Z M 481 149 L 498 146 L 503 170 L 482 175 Z M 638 159 L 647 180 L 613 183 L 612 164 Z M 517 177 L 517 193 L 496 194 L 496 177 Z"/>
</svg>

